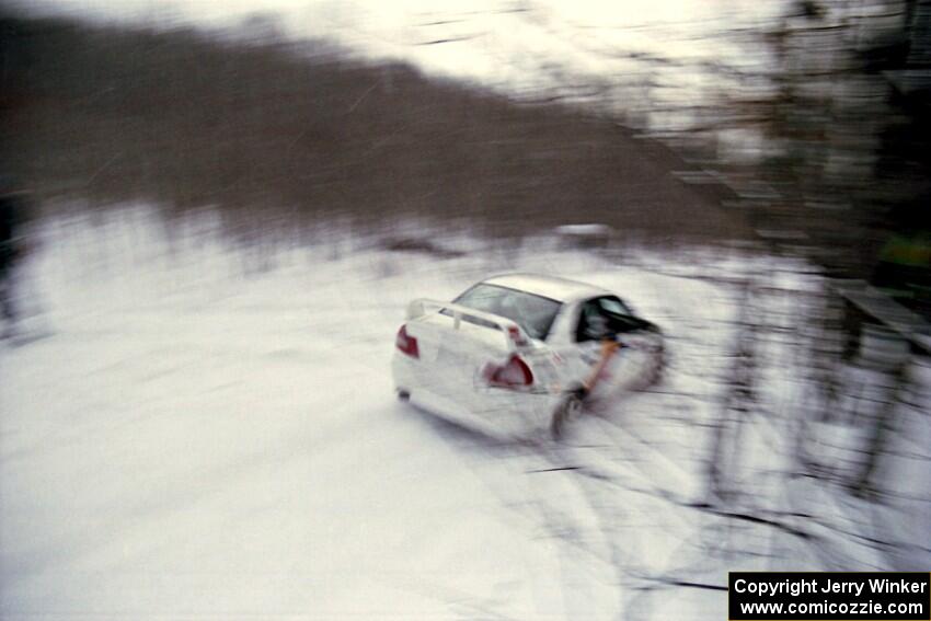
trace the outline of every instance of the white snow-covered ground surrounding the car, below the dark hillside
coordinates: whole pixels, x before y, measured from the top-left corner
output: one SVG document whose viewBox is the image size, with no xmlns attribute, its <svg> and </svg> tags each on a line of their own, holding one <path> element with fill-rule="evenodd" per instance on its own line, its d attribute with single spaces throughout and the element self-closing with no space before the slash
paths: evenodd
<svg viewBox="0 0 931 621">
<path fill-rule="evenodd" d="M 885 562 L 862 528 L 813 545 L 812 498 L 842 496 L 790 483 L 791 410 L 738 426 L 717 462 L 745 493 L 709 503 L 735 283 L 781 264 L 467 235 L 438 258 L 337 229 L 249 251 L 209 212 L 171 231 L 145 207 L 42 230 L 47 334 L 0 349 L 3 619 L 723 619 L 728 570 Z M 664 381 L 558 445 L 398 403 L 406 302 L 510 269 L 629 299 L 669 334 Z"/>
</svg>

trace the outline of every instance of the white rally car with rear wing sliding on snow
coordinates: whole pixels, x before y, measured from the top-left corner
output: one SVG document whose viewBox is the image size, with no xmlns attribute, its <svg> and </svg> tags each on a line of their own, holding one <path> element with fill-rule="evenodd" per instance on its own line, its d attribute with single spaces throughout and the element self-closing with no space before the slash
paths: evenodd
<svg viewBox="0 0 931 621">
<path fill-rule="evenodd" d="M 548 429 L 568 391 L 601 356 L 609 326 L 623 347 L 594 398 L 607 399 L 663 364 L 663 335 L 609 290 L 565 278 L 508 274 L 452 302 L 417 299 L 392 361 L 402 400 L 492 435 Z"/>
</svg>

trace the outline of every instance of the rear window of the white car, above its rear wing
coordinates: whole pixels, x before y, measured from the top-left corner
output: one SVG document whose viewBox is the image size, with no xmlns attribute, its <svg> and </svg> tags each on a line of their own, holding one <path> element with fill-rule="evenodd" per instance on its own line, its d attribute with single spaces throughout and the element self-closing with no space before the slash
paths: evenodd
<svg viewBox="0 0 931 621">
<path fill-rule="evenodd" d="M 455 303 L 507 318 L 531 338 L 545 340 L 561 302 L 527 291 L 479 284 L 453 300 Z"/>
</svg>

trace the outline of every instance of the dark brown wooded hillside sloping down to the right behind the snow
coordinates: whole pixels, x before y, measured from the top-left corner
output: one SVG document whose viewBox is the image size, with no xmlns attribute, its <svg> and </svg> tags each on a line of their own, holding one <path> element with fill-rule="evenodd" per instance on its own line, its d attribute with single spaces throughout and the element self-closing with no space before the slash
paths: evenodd
<svg viewBox="0 0 931 621">
<path fill-rule="evenodd" d="M 734 237 L 716 189 L 616 123 L 509 102 L 325 42 L 2 21 L 3 168 L 43 197 L 491 230 L 600 221 Z"/>
</svg>

